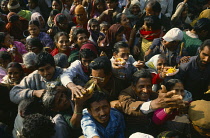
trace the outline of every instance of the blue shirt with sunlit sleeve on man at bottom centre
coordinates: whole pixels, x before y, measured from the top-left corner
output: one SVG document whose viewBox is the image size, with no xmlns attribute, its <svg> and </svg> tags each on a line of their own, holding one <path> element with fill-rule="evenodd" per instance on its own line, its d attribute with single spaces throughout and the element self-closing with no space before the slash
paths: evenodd
<svg viewBox="0 0 210 138">
<path fill-rule="evenodd" d="M 86 138 L 99 136 L 100 138 L 124 138 L 125 122 L 123 115 L 114 108 L 110 110 L 108 125 L 103 127 L 87 111 L 83 110 L 81 127 Z"/>
</svg>

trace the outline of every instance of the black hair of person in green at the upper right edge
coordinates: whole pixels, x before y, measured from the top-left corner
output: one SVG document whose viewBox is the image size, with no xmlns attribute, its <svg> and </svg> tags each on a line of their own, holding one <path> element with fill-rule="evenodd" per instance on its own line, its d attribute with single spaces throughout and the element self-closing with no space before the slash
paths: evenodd
<svg viewBox="0 0 210 138">
<path fill-rule="evenodd" d="M 196 32 L 201 32 L 202 30 L 209 31 L 210 30 L 210 19 L 208 18 L 201 18 L 199 19 L 193 27 L 193 30 Z"/>
</svg>

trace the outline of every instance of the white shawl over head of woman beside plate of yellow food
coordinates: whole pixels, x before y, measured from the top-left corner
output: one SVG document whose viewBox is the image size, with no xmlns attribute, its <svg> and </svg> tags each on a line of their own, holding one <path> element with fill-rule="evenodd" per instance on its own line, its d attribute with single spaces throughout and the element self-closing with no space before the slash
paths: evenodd
<svg viewBox="0 0 210 138">
<path fill-rule="evenodd" d="M 150 58 L 149 61 L 145 63 L 145 65 L 149 68 L 149 71 L 151 73 L 157 74 L 157 63 L 160 59 L 160 54 L 154 55 L 152 58 Z"/>
</svg>

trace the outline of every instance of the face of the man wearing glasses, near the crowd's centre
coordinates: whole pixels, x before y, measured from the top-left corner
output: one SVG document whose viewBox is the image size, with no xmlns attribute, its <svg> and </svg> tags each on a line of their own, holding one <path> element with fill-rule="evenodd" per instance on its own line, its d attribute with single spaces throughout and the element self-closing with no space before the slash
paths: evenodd
<svg viewBox="0 0 210 138">
<path fill-rule="evenodd" d="M 102 88 L 107 84 L 107 82 L 109 81 L 110 77 L 111 77 L 111 73 L 110 73 L 110 75 L 106 75 L 104 73 L 103 69 L 98 69 L 98 70 L 92 69 L 92 78 Z"/>
</svg>

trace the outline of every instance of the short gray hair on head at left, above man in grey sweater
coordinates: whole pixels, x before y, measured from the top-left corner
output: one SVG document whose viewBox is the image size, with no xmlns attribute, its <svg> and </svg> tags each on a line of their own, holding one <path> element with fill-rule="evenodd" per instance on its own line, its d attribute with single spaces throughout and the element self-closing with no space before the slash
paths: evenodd
<svg viewBox="0 0 210 138">
<path fill-rule="evenodd" d="M 36 54 L 34 52 L 28 52 L 23 55 L 23 64 L 26 68 L 36 65 Z"/>
</svg>

